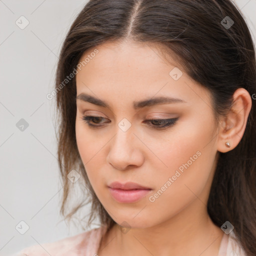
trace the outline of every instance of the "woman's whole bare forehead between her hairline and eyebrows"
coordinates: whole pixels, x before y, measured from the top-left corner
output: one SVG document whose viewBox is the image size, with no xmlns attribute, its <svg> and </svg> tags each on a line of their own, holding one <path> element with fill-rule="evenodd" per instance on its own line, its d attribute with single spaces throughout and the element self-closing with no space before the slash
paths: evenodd
<svg viewBox="0 0 256 256">
<path fill-rule="evenodd" d="M 97 53 L 92 54 L 95 49 Z M 80 58 L 80 62 L 85 58 L 87 61 L 76 74 L 77 95 L 85 92 L 101 99 L 125 102 L 129 98 L 133 101 L 154 95 L 191 101 L 198 100 L 198 94 L 205 94 L 205 89 L 171 56 L 168 60 L 163 58 L 159 49 L 152 43 L 130 42 L 106 42 L 89 48 Z M 170 75 L 173 68 L 182 70 L 177 80 Z"/>
</svg>

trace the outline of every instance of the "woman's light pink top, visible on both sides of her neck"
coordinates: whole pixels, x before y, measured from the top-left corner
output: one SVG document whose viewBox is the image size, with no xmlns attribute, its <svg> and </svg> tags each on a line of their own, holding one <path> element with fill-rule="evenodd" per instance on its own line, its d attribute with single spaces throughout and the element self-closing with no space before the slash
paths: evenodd
<svg viewBox="0 0 256 256">
<path fill-rule="evenodd" d="M 55 242 L 32 245 L 10 256 L 98 256 L 105 231 L 106 227 L 101 226 Z M 233 231 L 228 235 L 224 233 L 217 256 L 245 256 L 234 237 Z"/>
</svg>

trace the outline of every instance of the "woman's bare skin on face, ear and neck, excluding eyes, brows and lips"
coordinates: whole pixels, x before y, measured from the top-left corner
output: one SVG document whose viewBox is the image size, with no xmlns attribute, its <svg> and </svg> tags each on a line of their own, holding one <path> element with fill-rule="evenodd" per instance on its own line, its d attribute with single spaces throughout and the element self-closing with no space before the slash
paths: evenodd
<svg viewBox="0 0 256 256">
<path fill-rule="evenodd" d="M 173 59 L 162 58 L 156 45 L 126 41 L 96 48 L 99 52 L 76 74 L 77 95 L 90 94 L 109 107 L 77 99 L 75 132 L 89 181 L 116 222 L 102 238 L 98 255 L 217 255 L 223 231 L 209 218 L 206 204 L 218 151 L 232 150 L 244 133 L 249 93 L 237 89 L 230 113 L 215 123 L 210 92 Z M 178 80 L 169 75 L 175 66 L 183 72 Z M 132 107 L 133 100 L 166 95 L 186 102 Z M 83 115 L 105 119 L 99 120 L 102 126 L 91 128 Z M 161 130 L 156 129 L 159 123 L 143 122 L 174 117 L 174 125 Z M 123 118 L 131 123 L 125 132 L 118 127 Z M 200 156 L 154 202 L 149 201 L 197 151 Z M 152 190 L 137 202 L 120 203 L 107 188 L 115 180 Z M 125 232 L 120 224 L 127 227 Z"/>
</svg>

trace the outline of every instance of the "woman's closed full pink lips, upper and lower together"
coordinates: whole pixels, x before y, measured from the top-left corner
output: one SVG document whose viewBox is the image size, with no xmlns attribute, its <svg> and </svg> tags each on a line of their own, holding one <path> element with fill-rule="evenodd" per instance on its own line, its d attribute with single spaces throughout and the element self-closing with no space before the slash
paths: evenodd
<svg viewBox="0 0 256 256">
<path fill-rule="evenodd" d="M 118 202 L 135 202 L 144 197 L 152 189 L 144 187 L 137 183 L 126 182 L 124 184 L 120 182 L 112 182 L 109 186 L 110 194 Z"/>
</svg>

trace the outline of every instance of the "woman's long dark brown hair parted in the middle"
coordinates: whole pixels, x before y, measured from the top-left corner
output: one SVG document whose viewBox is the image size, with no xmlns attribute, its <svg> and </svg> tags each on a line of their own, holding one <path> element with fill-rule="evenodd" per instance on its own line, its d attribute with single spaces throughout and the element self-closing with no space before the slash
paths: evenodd
<svg viewBox="0 0 256 256">
<path fill-rule="evenodd" d="M 63 81 L 75 70 L 87 49 L 109 40 L 128 39 L 161 45 L 165 57 L 174 55 L 184 71 L 212 93 L 216 119 L 230 109 L 237 88 L 245 88 L 250 95 L 256 92 L 253 41 L 243 15 L 230 0 L 88 1 L 63 42 L 55 81 L 59 112 L 58 164 L 63 179 L 60 211 L 65 214 L 70 193 L 67 174 L 76 169 L 88 190 L 87 201 L 80 202 L 65 218 L 71 218 L 79 208 L 91 202 L 88 225 L 96 216 L 108 228 L 114 221 L 95 195 L 77 149 L 75 78 L 65 85 Z M 252 100 L 238 145 L 226 153 L 219 152 L 207 202 L 212 221 L 220 227 L 228 220 L 248 256 L 256 255 L 255 107 L 256 100 Z"/>
</svg>

